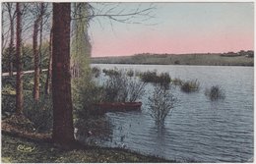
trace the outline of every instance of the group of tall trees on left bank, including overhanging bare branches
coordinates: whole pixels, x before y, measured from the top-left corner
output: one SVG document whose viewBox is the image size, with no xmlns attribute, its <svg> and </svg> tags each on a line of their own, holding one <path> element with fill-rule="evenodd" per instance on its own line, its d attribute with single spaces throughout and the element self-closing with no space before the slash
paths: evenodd
<svg viewBox="0 0 256 164">
<path fill-rule="evenodd" d="M 74 74 L 78 74 L 78 77 L 87 74 L 89 58 L 81 58 L 81 56 L 85 53 L 87 55 L 91 54 L 91 45 L 87 33 L 89 21 L 93 18 L 105 17 L 110 22 L 133 24 L 136 23 L 132 22 L 132 19 L 136 18 L 135 16 L 143 16 L 143 19 L 145 17 L 151 18 L 150 12 L 154 7 L 150 5 L 146 9 L 136 8 L 132 11 L 121 9 L 117 10 L 116 13 L 113 13 L 114 9 L 118 9 L 116 4 L 110 4 L 110 7 L 109 4 L 101 5 L 100 8 L 96 10 L 89 3 L 3 3 L 2 52 L 8 52 L 9 75 L 13 76 L 13 72 L 17 72 L 17 116 L 23 115 L 24 107 L 23 47 L 26 43 L 32 42 L 33 98 L 37 101 L 40 93 L 39 77 L 42 44 L 45 38 L 48 40 L 48 72 L 45 91 L 48 94 L 50 93 L 49 86 L 51 84 L 53 102 L 52 139 L 57 143 L 69 144 L 75 140 L 71 78 L 74 77 Z M 29 31 L 32 31 L 32 34 L 28 34 Z M 80 66 L 86 66 L 86 69 L 81 71 L 78 68 Z"/>
</svg>

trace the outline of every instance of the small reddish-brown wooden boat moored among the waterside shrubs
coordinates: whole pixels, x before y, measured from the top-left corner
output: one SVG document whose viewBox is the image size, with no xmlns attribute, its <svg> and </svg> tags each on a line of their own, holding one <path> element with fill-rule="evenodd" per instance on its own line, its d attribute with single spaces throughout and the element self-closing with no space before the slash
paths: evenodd
<svg viewBox="0 0 256 164">
<path fill-rule="evenodd" d="M 105 112 L 126 112 L 140 110 L 142 102 L 100 102 L 95 104 L 97 110 Z"/>
</svg>

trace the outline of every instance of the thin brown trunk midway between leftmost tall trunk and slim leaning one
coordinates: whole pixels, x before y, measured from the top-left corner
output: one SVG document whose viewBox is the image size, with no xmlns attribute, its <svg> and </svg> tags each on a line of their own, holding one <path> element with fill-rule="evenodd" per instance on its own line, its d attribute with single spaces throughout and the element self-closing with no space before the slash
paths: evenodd
<svg viewBox="0 0 256 164">
<path fill-rule="evenodd" d="M 33 98 L 39 100 L 39 54 L 37 50 L 37 33 L 38 33 L 38 20 L 33 25 L 32 35 L 32 51 L 33 51 L 33 62 L 34 62 L 34 78 L 33 78 Z"/>
</svg>

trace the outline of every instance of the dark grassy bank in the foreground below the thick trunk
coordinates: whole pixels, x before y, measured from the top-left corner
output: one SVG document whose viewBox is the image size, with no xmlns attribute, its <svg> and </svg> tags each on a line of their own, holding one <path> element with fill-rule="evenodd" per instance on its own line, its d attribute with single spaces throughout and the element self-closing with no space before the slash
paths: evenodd
<svg viewBox="0 0 256 164">
<path fill-rule="evenodd" d="M 23 151 L 18 147 L 25 146 Z M 8 163 L 85 163 L 85 162 L 171 162 L 153 156 L 145 156 L 119 148 L 84 148 L 63 150 L 48 142 L 15 137 L 2 133 L 2 162 Z"/>
</svg>

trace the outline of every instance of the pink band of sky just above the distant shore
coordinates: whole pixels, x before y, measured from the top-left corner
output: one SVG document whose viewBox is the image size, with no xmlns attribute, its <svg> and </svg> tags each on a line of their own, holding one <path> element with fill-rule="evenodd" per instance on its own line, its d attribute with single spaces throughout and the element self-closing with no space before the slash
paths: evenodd
<svg viewBox="0 0 256 164">
<path fill-rule="evenodd" d="M 239 50 L 252 50 L 253 37 L 250 33 L 228 33 L 218 35 L 216 33 L 200 37 L 191 34 L 190 36 L 151 37 L 137 36 L 126 37 L 118 41 L 103 39 L 107 44 L 100 43 L 94 46 L 93 56 L 122 56 L 134 55 L 137 53 L 218 53 L 237 52 Z"/>
</svg>

